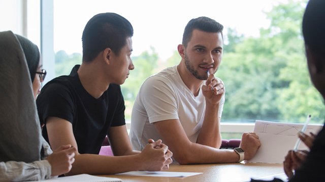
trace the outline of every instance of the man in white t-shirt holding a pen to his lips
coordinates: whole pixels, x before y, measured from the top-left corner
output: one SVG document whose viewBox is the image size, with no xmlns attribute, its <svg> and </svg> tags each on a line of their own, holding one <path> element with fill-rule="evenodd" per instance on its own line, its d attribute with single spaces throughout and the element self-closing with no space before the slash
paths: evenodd
<svg viewBox="0 0 325 182">
<path fill-rule="evenodd" d="M 248 160 L 261 145 L 244 133 L 240 148 L 220 150 L 224 85 L 216 78 L 223 52 L 223 26 L 208 17 L 190 20 L 184 30 L 179 65 L 144 81 L 136 98 L 130 138 L 136 150 L 162 139 L 180 164 Z"/>
</svg>

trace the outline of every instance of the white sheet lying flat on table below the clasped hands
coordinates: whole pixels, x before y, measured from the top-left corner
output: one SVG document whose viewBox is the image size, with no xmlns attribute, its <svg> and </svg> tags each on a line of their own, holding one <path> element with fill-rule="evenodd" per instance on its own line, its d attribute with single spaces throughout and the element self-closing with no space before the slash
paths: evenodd
<svg viewBox="0 0 325 182">
<path fill-rule="evenodd" d="M 170 172 L 170 171 L 131 171 L 118 173 L 117 175 L 140 175 L 140 176 L 156 176 L 156 177 L 187 177 L 202 174 L 202 172 Z"/>
</svg>

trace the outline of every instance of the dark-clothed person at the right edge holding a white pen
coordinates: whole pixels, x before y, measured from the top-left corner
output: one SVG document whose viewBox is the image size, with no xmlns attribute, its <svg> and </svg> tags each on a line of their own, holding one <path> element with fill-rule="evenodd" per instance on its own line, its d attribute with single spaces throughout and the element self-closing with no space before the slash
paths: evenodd
<svg viewBox="0 0 325 182">
<path fill-rule="evenodd" d="M 311 81 L 325 99 L 325 1 L 310 0 L 302 23 L 307 65 Z M 310 151 L 289 151 L 283 162 L 289 181 L 325 181 L 325 127 L 317 135 L 299 138 Z M 307 155 L 307 156 L 306 156 Z M 293 173 L 295 170 L 295 173 Z M 251 180 L 260 181 L 260 180 Z M 274 178 L 273 181 L 281 181 Z"/>
</svg>

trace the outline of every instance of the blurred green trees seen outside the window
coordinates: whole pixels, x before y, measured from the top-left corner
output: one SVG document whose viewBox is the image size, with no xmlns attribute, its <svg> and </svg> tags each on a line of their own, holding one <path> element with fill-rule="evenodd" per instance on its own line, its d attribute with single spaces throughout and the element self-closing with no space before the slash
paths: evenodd
<svg viewBox="0 0 325 182">
<path fill-rule="evenodd" d="M 228 29 L 223 59 L 215 74 L 226 88 L 222 122 L 304 122 L 311 114 L 312 123 L 323 123 L 325 108 L 309 78 L 301 35 L 305 6 L 306 1 L 289 1 L 273 7 L 267 12 L 271 24 L 261 28 L 258 37 L 245 37 Z M 81 58 L 79 53 L 57 52 L 56 75 L 69 74 L 73 65 L 81 64 Z M 176 50 L 168 60 L 161 60 L 154 48 L 133 57 L 135 70 L 121 86 L 126 119 L 131 118 L 143 81 L 179 61 Z"/>
</svg>

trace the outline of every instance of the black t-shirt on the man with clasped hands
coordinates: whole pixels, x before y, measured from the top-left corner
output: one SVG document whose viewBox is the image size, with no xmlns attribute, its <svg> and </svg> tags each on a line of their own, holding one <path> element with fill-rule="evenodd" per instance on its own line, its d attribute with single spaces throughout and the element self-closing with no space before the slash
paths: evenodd
<svg viewBox="0 0 325 182">
<path fill-rule="evenodd" d="M 37 97 L 40 122 L 45 123 L 42 134 L 47 142 L 46 118 L 59 117 L 72 123 L 80 154 L 99 154 L 110 126 L 125 125 L 124 99 L 121 88 L 110 84 L 95 99 L 82 86 L 76 65 L 69 76 L 49 81 Z"/>
</svg>

